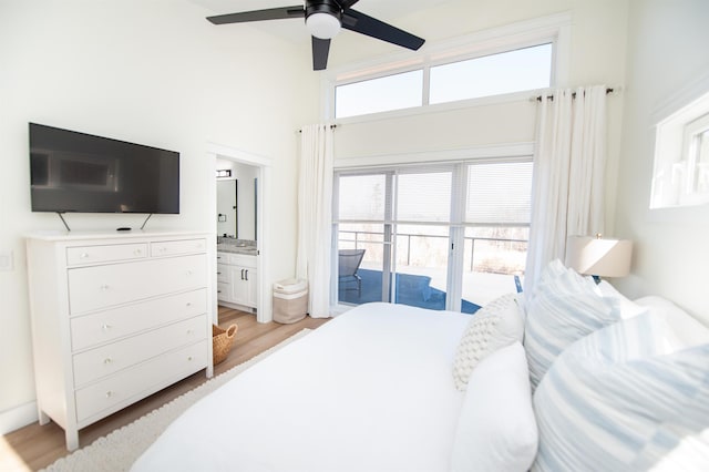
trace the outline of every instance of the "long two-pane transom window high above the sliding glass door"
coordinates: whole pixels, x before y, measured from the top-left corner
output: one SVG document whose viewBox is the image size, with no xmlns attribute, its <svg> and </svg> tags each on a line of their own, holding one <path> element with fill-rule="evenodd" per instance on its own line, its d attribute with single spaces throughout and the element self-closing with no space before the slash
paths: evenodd
<svg viewBox="0 0 709 472">
<path fill-rule="evenodd" d="M 335 117 L 545 89 L 552 85 L 553 55 L 554 43 L 544 42 L 336 84 Z"/>
</svg>

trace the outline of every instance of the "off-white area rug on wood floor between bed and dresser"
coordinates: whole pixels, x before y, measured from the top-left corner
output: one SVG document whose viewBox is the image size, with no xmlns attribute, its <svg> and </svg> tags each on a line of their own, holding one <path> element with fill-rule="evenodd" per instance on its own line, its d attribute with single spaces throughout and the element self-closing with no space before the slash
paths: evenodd
<svg viewBox="0 0 709 472">
<path fill-rule="evenodd" d="M 310 329 L 304 329 L 273 348 L 255 356 L 226 372 L 206 381 L 169 403 L 151 411 L 132 423 L 99 438 L 90 445 L 58 459 L 43 471 L 47 472 L 116 472 L 127 471 L 133 462 L 157 439 L 157 437 L 183 411 L 207 393 L 216 390 L 259 360 L 274 353 L 289 342 L 304 337 Z"/>
</svg>

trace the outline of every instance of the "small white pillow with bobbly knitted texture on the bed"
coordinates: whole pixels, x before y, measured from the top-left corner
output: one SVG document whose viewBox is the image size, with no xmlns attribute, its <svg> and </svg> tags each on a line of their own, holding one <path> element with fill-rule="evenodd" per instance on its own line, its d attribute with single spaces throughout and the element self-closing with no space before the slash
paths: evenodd
<svg viewBox="0 0 709 472">
<path fill-rule="evenodd" d="M 467 378 L 475 366 L 500 348 L 518 341 L 524 336 L 524 316 L 517 304 L 517 294 L 503 295 L 479 309 L 467 324 L 453 360 L 453 381 L 465 390 Z"/>
</svg>

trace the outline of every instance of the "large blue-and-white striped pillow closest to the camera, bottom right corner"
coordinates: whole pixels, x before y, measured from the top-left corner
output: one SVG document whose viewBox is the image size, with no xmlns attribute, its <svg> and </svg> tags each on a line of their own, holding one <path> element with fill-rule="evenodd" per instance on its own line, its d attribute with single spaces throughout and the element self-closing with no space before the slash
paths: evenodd
<svg viewBox="0 0 709 472">
<path fill-rule="evenodd" d="M 533 471 L 709 470 L 709 343 L 687 346 L 657 316 L 565 350 L 534 394 Z"/>
</svg>

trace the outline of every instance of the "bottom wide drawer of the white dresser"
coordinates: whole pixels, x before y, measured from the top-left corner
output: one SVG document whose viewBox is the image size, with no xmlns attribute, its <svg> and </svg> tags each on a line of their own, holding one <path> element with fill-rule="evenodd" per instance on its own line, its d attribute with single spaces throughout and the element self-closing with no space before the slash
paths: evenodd
<svg viewBox="0 0 709 472">
<path fill-rule="evenodd" d="M 166 352 L 76 390 L 76 421 L 81 424 L 103 418 L 161 388 L 204 369 L 207 341 Z"/>
</svg>

